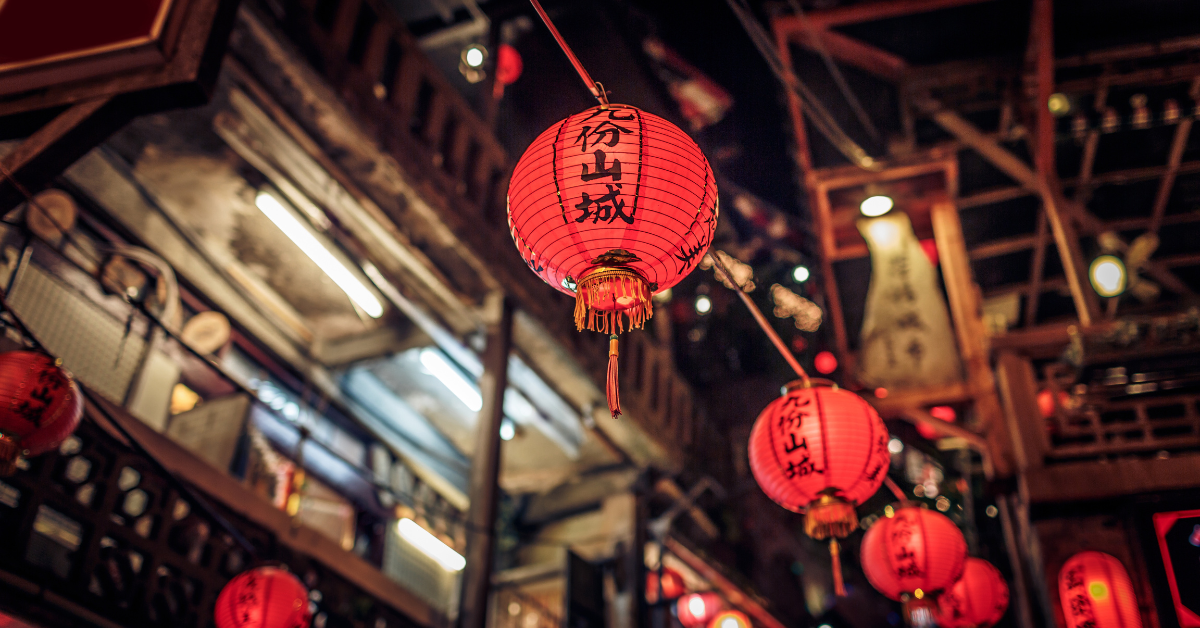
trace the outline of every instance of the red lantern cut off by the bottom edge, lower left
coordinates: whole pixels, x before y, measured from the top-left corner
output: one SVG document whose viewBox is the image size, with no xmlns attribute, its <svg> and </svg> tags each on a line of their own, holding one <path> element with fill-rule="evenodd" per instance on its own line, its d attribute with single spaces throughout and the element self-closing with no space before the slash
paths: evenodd
<svg viewBox="0 0 1200 628">
<path fill-rule="evenodd" d="M 217 628 L 307 628 L 308 590 L 276 567 L 242 572 L 221 590 L 212 620 Z"/>
</svg>

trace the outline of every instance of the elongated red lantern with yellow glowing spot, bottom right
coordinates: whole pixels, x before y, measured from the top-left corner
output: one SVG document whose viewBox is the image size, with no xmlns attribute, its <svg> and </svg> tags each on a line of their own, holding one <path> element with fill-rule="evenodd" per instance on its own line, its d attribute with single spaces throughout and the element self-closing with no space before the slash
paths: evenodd
<svg viewBox="0 0 1200 628">
<path fill-rule="evenodd" d="M 1129 573 L 1108 554 L 1072 556 L 1058 572 L 1058 599 L 1067 628 L 1141 628 Z"/>
</svg>

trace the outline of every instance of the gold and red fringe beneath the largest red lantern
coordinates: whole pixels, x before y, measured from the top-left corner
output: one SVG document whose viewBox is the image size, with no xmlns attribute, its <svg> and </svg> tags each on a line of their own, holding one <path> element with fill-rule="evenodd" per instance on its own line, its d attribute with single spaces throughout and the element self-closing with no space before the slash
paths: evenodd
<svg viewBox="0 0 1200 628">
<path fill-rule="evenodd" d="M 626 329 L 625 317 L 629 318 L 628 329 L 641 329 L 654 316 L 650 287 L 634 270 L 601 268 L 584 277 L 576 291 L 575 329 L 580 331 L 620 334 Z M 617 299 L 631 299 L 632 303 L 619 307 Z"/>
</svg>

